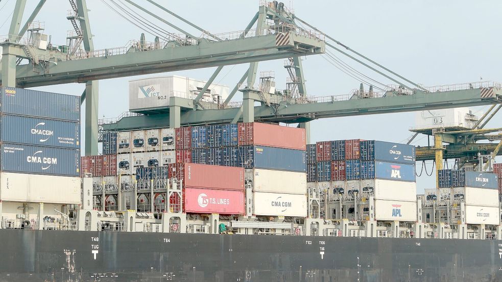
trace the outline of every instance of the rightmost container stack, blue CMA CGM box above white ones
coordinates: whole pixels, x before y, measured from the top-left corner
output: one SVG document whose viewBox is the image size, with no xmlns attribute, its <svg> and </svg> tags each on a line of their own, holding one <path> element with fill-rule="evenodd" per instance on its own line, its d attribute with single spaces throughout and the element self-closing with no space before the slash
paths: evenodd
<svg viewBox="0 0 502 282">
<path fill-rule="evenodd" d="M 497 174 L 443 169 L 438 171 L 438 180 L 440 189 L 450 189 L 453 199 L 465 202 L 466 223 L 499 224 Z"/>
</svg>

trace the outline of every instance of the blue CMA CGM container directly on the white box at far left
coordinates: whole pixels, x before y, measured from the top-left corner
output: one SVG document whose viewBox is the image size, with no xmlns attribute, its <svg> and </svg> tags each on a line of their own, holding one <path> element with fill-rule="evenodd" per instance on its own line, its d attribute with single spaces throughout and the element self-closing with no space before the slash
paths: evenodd
<svg viewBox="0 0 502 282">
<path fill-rule="evenodd" d="M 80 150 L 1 144 L 0 170 L 47 175 L 79 176 Z"/>
</svg>

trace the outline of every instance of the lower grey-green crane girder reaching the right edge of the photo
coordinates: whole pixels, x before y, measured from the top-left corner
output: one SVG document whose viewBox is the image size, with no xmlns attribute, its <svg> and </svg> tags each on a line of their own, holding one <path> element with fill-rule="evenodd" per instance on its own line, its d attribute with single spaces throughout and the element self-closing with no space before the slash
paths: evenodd
<svg viewBox="0 0 502 282">
<path fill-rule="evenodd" d="M 319 118 L 354 115 L 386 114 L 431 109 L 483 106 L 502 103 L 502 90 L 494 89 L 491 98 L 482 98 L 482 89 L 443 92 L 416 91 L 413 95 L 389 95 L 379 98 L 348 99 L 338 101 L 336 96 L 318 97 L 317 102 L 286 104 L 279 102 L 277 109 L 265 105 L 254 107 L 256 121 L 305 122 Z M 276 96 L 275 96 L 276 97 Z M 172 97 L 171 106 L 179 106 L 181 125 L 231 122 L 239 108 L 193 111 L 193 100 Z M 167 109 L 166 109 L 167 111 Z M 105 131 L 132 130 L 145 127 L 168 127 L 169 113 L 126 117 L 113 124 L 104 124 Z"/>
</svg>

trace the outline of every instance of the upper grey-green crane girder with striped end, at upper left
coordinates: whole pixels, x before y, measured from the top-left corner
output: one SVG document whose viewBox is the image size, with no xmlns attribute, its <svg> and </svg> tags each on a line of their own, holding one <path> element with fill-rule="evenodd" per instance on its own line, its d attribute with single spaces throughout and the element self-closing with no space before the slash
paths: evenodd
<svg viewBox="0 0 502 282">
<path fill-rule="evenodd" d="M 280 40 L 278 39 L 280 37 Z M 13 43 L 3 43 L 13 44 Z M 91 80 L 119 78 L 165 71 L 242 64 L 324 53 L 324 41 L 319 37 L 289 33 L 264 34 L 223 41 L 202 39 L 196 45 L 167 46 L 140 50 L 131 46 L 125 54 L 113 55 L 102 50 L 101 55 L 76 60 L 58 60 L 34 71 L 33 65 L 16 69 L 19 87 L 36 87 Z"/>
</svg>

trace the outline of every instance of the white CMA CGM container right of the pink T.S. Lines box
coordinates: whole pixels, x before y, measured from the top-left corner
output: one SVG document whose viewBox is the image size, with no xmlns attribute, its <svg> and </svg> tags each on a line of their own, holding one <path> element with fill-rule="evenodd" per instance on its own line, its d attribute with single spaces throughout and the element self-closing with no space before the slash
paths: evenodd
<svg viewBox="0 0 502 282">
<path fill-rule="evenodd" d="M 262 216 L 307 216 L 307 196 L 253 192 L 254 215 Z"/>
</svg>

